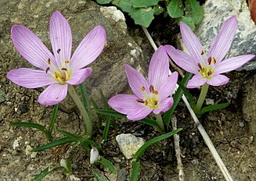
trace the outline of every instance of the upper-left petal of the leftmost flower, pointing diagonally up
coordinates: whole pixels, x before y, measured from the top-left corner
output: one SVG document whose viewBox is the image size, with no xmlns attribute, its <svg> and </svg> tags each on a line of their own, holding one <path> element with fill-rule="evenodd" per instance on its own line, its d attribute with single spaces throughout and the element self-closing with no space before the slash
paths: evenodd
<svg viewBox="0 0 256 181">
<path fill-rule="evenodd" d="M 11 37 L 20 55 L 24 59 L 27 59 L 33 66 L 45 70 L 49 66 L 47 60 L 51 59 L 54 61 L 54 57 L 49 49 L 27 27 L 14 25 L 11 30 Z"/>
</svg>

